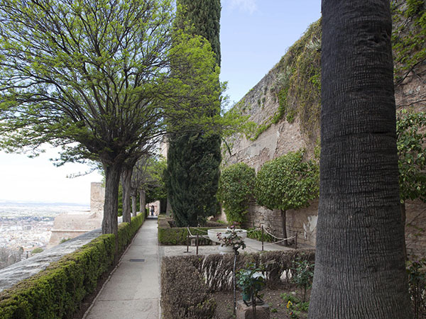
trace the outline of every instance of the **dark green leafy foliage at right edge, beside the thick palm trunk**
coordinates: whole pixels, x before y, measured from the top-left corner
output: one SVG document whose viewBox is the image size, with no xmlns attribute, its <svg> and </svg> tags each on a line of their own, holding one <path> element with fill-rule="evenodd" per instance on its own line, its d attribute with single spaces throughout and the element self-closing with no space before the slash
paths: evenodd
<svg viewBox="0 0 426 319">
<path fill-rule="evenodd" d="M 426 201 L 426 113 L 402 110 L 398 113 L 398 169 L 400 200 Z"/>
</svg>

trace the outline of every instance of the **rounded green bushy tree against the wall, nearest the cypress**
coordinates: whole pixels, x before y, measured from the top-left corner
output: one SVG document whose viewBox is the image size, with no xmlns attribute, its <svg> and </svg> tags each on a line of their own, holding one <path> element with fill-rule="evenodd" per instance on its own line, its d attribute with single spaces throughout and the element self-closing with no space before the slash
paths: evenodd
<svg viewBox="0 0 426 319">
<path fill-rule="evenodd" d="M 232 164 L 222 169 L 218 198 L 222 201 L 228 222 L 242 223 L 253 198 L 256 172 L 245 163 Z"/>
</svg>

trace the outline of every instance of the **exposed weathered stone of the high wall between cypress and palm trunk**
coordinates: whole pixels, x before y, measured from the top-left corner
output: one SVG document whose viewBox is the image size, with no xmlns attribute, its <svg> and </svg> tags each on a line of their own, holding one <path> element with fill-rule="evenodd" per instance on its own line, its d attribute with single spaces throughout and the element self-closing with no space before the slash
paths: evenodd
<svg viewBox="0 0 426 319">
<path fill-rule="evenodd" d="M 275 85 L 278 74 L 278 67 L 271 69 L 241 100 L 246 106 L 244 113 L 250 116 L 250 121 L 259 124 L 264 123 L 277 111 L 279 106 L 278 99 L 274 99 L 273 92 L 268 88 Z M 263 104 L 259 105 L 258 100 L 262 99 L 263 96 L 266 99 L 264 99 Z M 244 162 L 253 167 L 256 172 L 258 172 L 263 163 L 271 159 L 280 157 L 287 152 L 294 152 L 300 150 L 300 148 L 307 147 L 307 142 L 302 137 L 298 118 L 293 123 L 288 123 L 288 121 L 283 119 L 276 124 L 272 124 L 270 128 L 258 135 L 258 138 L 254 141 L 239 134 L 229 138 L 227 143 L 231 150 L 231 155 L 228 150 L 224 149 L 223 164 L 228 166 L 237 162 Z M 302 247 L 315 246 L 317 208 L 318 202 L 314 201 L 309 208 L 287 211 L 288 237 L 292 237 L 297 233 L 297 244 L 302 245 Z M 283 236 L 280 211 L 271 211 L 252 202 L 243 227 L 260 228 L 262 225 L 274 235 Z"/>
</svg>

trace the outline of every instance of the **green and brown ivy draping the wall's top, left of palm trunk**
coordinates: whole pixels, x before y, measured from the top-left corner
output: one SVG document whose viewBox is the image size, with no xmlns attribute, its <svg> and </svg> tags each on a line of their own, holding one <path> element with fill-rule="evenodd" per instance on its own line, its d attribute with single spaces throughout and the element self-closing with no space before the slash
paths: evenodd
<svg viewBox="0 0 426 319">
<path fill-rule="evenodd" d="M 278 74 L 270 91 L 278 100 L 278 109 L 258 126 L 252 136 L 258 135 L 285 118 L 293 123 L 298 116 L 302 134 L 317 140 L 320 123 L 321 73 L 321 19 L 307 29 L 302 38 L 288 49 L 276 68 Z"/>
</svg>

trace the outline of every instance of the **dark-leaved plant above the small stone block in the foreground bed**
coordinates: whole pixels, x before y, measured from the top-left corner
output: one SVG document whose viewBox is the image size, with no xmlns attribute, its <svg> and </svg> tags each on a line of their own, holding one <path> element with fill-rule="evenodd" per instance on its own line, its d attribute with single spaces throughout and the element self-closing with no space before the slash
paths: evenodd
<svg viewBox="0 0 426 319">
<path fill-rule="evenodd" d="M 246 306 L 263 304 L 259 291 L 265 286 L 265 278 L 261 268 L 255 264 L 247 264 L 246 268 L 240 269 L 236 274 L 236 284 L 241 288 L 243 301 Z"/>
</svg>

